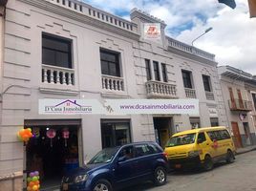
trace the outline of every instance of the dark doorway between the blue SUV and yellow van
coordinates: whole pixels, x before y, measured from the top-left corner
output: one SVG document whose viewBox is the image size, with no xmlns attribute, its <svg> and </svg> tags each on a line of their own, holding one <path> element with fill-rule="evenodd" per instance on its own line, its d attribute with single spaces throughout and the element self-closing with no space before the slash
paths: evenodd
<svg viewBox="0 0 256 191">
<path fill-rule="evenodd" d="M 153 117 L 155 136 L 162 148 L 172 136 L 172 117 Z"/>
</svg>

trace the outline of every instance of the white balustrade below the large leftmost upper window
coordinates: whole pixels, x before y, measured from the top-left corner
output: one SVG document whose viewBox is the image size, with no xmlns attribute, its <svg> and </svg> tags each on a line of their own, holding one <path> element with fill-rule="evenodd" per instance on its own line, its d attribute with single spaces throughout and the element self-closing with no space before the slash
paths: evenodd
<svg viewBox="0 0 256 191">
<path fill-rule="evenodd" d="M 75 85 L 74 69 L 42 65 L 42 82 L 46 84 Z"/>
</svg>

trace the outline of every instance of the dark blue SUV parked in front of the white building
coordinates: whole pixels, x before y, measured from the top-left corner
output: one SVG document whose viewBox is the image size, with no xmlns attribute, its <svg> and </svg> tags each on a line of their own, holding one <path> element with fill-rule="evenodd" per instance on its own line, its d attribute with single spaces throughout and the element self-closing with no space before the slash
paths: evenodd
<svg viewBox="0 0 256 191">
<path fill-rule="evenodd" d="M 86 166 L 63 177 L 61 190 L 113 191 L 142 180 L 162 185 L 166 182 L 167 166 L 166 154 L 155 142 L 105 148 Z"/>
</svg>

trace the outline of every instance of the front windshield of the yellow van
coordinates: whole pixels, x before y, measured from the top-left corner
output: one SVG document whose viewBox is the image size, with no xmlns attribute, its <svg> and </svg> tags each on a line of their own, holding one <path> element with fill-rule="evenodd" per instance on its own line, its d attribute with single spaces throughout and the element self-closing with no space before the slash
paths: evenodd
<svg viewBox="0 0 256 191">
<path fill-rule="evenodd" d="M 181 136 L 172 137 L 168 140 L 166 147 L 191 144 L 195 142 L 195 138 L 196 134 L 185 134 Z"/>
</svg>

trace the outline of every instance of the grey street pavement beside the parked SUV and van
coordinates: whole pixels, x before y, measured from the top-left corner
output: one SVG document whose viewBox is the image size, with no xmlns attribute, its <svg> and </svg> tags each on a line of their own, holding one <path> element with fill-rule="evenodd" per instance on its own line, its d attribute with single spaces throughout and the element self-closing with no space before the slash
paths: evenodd
<svg viewBox="0 0 256 191">
<path fill-rule="evenodd" d="M 209 172 L 172 172 L 167 183 L 141 183 L 125 191 L 256 191 L 256 151 L 236 156 L 234 163 L 219 163 Z"/>
</svg>

